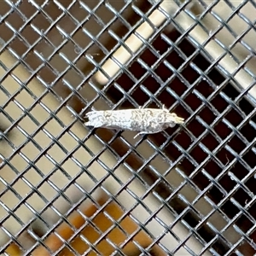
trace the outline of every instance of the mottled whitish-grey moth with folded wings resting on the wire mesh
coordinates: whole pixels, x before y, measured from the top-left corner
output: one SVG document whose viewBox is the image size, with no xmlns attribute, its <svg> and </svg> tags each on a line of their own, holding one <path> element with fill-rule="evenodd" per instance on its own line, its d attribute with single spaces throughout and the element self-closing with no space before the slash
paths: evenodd
<svg viewBox="0 0 256 256">
<path fill-rule="evenodd" d="M 102 127 L 114 130 L 138 131 L 136 138 L 143 134 L 164 131 L 168 127 L 183 124 L 183 118 L 163 108 L 135 108 L 124 110 L 96 110 L 85 114 L 89 119 L 84 123 L 94 128 Z"/>
</svg>

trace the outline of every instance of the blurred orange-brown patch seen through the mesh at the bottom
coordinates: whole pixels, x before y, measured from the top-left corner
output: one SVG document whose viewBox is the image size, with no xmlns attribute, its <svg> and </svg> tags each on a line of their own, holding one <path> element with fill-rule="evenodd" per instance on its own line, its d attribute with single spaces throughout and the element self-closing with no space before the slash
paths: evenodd
<svg viewBox="0 0 256 256">
<path fill-rule="evenodd" d="M 105 202 L 105 200 L 101 199 L 99 204 L 103 205 Z M 90 218 L 96 211 L 97 207 L 91 205 L 86 208 L 83 213 L 86 217 Z M 115 227 L 113 227 L 114 221 L 118 223 L 119 218 L 122 218 L 124 213 L 125 212 L 118 204 L 115 202 L 109 203 L 108 206 L 104 208 L 104 212 L 99 212 L 96 217 L 91 220 L 92 224 L 88 223 L 85 228 L 79 232 L 79 235 L 76 236 L 73 241 L 69 242 L 70 247 L 72 247 L 76 253 L 81 255 L 85 252 L 87 252 L 86 255 L 90 256 L 98 255 L 99 253 L 101 255 L 110 255 L 115 251 L 114 246 L 119 247 L 121 244 L 125 243 L 125 241 L 128 241 L 129 237 L 136 234 L 124 247 L 120 248 L 120 250 L 125 255 L 131 255 L 131 253 L 132 255 L 139 255 L 142 252 L 132 241 L 136 241 L 141 247 L 148 247 L 153 240 L 144 231 L 140 230 L 137 232 L 140 228 L 130 217 L 125 217 L 119 222 L 119 225 L 116 224 Z M 113 221 L 108 218 L 107 215 L 112 218 Z M 63 242 L 55 234 L 57 233 L 61 236 L 64 241 L 68 241 L 74 235 L 74 230 L 80 229 L 85 223 L 84 218 L 79 212 L 73 212 L 68 218 L 68 221 L 72 224 L 73 228 L 66 223 L 61 224 L 55 230 L 55 233 L 50 234 L 44 240 L 45 247 L 37 247 L 32 252 L 32 256 L 50 256 L 51 253 L 55 253 L 63 246 Z M 106 236 L 102 237 L 102 233 L 105 232 Z M 81 236 L 83 236 L 84 239 L 82 239 Z M 90 244 L 92 244 L 96 250 L 92 250 Z M 6 252 L 11 256 L 21 255 L 19 247 L 15 246 L 15 244 L 9 246 Z M 164 253 L 164 251 L 157 245 L 154 245 L 151 248 L 151 253 L 159 256 L 166 255 L 166 253 Z M 68 247 L 64 247 L 58 255 L 72 256 L 74 253 Z"/>
</svg>

